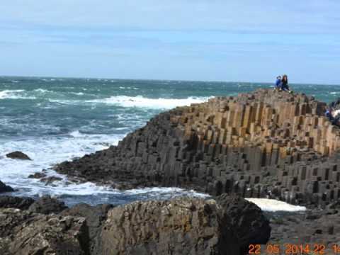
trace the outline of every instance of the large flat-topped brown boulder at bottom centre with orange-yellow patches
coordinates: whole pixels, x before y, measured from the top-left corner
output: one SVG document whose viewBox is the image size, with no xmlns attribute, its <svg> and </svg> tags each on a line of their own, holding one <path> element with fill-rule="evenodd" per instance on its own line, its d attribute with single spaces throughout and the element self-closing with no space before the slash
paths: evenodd
<svg viewBox="0 0 340 255">
<path fill-rule="evenodd" d="M 232 225 L 215 200 L 175 198 L 135 202 L 109 210 L 103 254 L 239 255 Z"/>
</svg>

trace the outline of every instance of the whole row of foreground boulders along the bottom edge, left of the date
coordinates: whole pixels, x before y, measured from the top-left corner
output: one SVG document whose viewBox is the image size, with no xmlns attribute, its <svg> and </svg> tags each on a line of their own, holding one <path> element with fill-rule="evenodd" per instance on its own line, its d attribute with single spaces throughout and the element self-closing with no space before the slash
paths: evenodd
<svg viewBox="0 0 340 255">
<path fill-rule="evenodd" d="M 52 198 L 4 196 L 0 254 L 243 255 L 248 244 L 268 241 L 268 220 L 256 205 L 225 195 L 217 200 L 79 204 L 60 212 L 62 203 Z"/>
</svg>

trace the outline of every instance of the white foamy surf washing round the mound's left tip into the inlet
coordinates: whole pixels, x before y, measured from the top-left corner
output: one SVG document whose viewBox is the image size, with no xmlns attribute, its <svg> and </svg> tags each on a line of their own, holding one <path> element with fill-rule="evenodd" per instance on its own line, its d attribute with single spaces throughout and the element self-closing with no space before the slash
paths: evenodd
<svg viewBox="0 0 340 255">
<path fill-rule="evenodd" d="M 41 137 L 35 140 L 21 140 L 5 142 L 0 145 L 0 156 L 8 152 L 21 150 L 29 155 L 32 161 L 18 161 L 1 157 L 0 179 L 16 188 L 16 196 L 60 196 L 69 203 L 88 200 L 88 203 L 128 203 L 132 200 L 168 199 L 176 196 L 196 196 L 205 198 L 208 195 L 186 191 L 181 188 L 139 188 L 128 191 L 118 191 L 111 186 L 97 186 L 95 183 L 72 183 L 67 176 L 57 174 L 51 166 L 53 164 L 81 157 L 84 154 L 106 149 L 109 145 L 117 145 L 124 135 L 86 135 L 79 130 L 71 132 L 73 138 Z M 60 177 L 60 181 L 53 186 L 46 186 L 38 179 L 28 179 L 28 175 L 45 169 L 47 176 Z"/>
</svg>

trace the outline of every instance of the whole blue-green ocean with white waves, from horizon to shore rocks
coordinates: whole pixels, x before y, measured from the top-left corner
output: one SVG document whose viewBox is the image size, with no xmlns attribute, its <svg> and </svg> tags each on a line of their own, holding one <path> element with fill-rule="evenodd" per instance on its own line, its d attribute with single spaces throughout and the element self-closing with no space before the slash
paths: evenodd
<svg viewBox="0 0 340 255">
<path fill-rule="evenodd" d="M 15 196 L 51 195 L 67 205 L 123 204 L 134 200 L 206 196 L 181 188 L 117 191 L 94 183 L 70 183 L 51 166 L 84 156 L 142 127 L 149 118 L 176 106 L 236 96 L 273 84 L 204 81 L 0 77 L 0 180 L 16 188 Z M 340 86 L 290 84 L 291 89 L 330 102 Z M 33 161 L 8 159 L 19 150 Z M 30 174 L 47 170 L 62 181 L 46 186 Z"/>
</svg>

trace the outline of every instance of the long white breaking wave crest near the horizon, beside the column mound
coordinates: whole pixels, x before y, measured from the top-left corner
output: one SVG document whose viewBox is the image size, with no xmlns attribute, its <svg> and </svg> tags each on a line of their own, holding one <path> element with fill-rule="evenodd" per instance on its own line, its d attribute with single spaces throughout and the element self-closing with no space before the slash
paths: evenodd
<svg viewBox="0 0 340 255">
<path fill-rule="evenodd" d="M 177 106 L 190 106 L 191 103 L 203 103 L 210 97 L 188 98 L 145 98 L 144 96 L 111 96 L 109 98 L 94 99 L 89 103 L 107 103 L 123 107 L 171 109 Z"/>
</svg>

